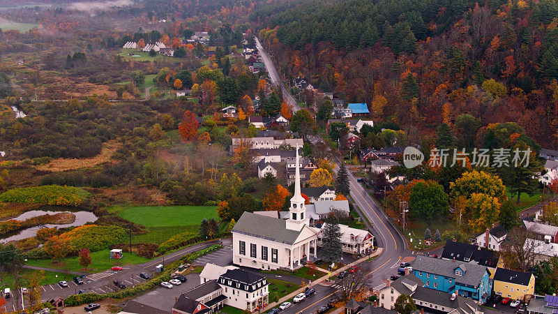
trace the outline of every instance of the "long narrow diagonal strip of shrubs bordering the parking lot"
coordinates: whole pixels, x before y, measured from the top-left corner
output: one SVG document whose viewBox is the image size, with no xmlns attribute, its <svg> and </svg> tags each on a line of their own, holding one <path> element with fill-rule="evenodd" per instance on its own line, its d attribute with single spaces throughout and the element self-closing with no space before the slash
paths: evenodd
<svg viewBox="0 0 558 314">
<path fill-rule="evenodd" d="M 203 255 L 215 252 L 223 248 L 220 244 L 213 244 L 209 248 L 205 248 L 203 250 L 190 253 L 188 255 L 184 255 L 179 260 L 176 260 L 167 266 L 165 266 L 165 270 L 160 273 L 155 278 L 152 278 L 149 281 L 145 281 L 140 285 L 136 285 L 134 287 L 126 288 L 124 290 L 116 291 L 116 292 L 108 292 L 105 294 L 98 294 L 98 293 L 86 293 L 86 294 L 75 294 L 70 297 L 64 299 L 64 305 L 66 306 L 79 306 L 81 304 L 88 304 L 91 302 L 98 302 L 103 299 L 124 299 L 129 297 L 134 297 L 137 294 L 142 292 L 146 292 L 147 290 L 151 290 L 155 287 L 158 287 L 163 281 L 169 281 L 170 274 L 177 269 L 180 264 L 183 264 L 184 261 L 193 261 Z"/>
</svg>

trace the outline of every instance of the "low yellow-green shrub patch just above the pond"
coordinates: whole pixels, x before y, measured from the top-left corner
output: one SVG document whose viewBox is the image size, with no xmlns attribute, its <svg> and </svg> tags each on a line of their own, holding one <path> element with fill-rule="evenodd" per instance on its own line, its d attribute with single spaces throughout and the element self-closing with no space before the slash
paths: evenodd
<svg viewBox="0 0 558 314">
<path fill-rule="evenodd" d="M 76 206 L 82 204 L 89 195 L 86 190 L 73 186 L 31 186 L 8 190 L 0 195 L 0 201 Z"/>
</svg>

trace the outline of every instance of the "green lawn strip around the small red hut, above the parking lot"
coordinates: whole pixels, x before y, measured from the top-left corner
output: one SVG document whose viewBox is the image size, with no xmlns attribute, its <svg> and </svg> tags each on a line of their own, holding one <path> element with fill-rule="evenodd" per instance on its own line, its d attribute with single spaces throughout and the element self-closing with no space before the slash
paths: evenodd
<svg viewBox="0 0 558 314">
<path fill-rule="evenodd" d="M 123 266 L 128 264 L 141 264 L 143 262 L 149 262 L 149 259 L 135 254 L 123 253 L 123 257 L 119 260 L 115 260 L 109 257 L 110 250 L 103 250 L 91 253 L 91 265 L 87 267 L 87 270 L 82 269 L 79 264 L 79 258 L 77 256 L 66 257 L 61 262 L 53 264 L 52 260 L 29 260 L 28 265 L 38 266 L 38 267 L 49 267 L 54 269 L 64 269 L 70 271 L 86 271 L 93 273 L 96 271 L 105 271 L 113 266 Z"/>
</svg>

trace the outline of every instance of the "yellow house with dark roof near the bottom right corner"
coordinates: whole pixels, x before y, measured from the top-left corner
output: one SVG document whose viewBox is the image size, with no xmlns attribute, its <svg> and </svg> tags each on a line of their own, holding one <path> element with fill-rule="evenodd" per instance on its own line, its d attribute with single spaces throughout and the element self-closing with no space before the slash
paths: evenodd
<svg viewBox="0 0 558 314">
<path fill-rule="evenodd" d="M 526 294 L 535 294 L 535 276 L 522 271 L 497 268 L 494 274 L 494 292 L 504 298 L 522 300 Z"/>
</svg>

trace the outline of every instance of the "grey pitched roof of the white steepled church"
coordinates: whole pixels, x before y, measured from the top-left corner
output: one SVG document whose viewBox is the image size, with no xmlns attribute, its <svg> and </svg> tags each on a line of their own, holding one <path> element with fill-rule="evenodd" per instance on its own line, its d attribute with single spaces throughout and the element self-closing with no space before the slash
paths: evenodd
<svg viewBox="0 0 558 314">
<path fill-rule="evenodd" d="M 232 228 L 232 232 L 267 239 L 283 244 L 294 244 L 300 231 L 287 229 L 287 222 L 279 218 L 245 211 Z"/>
</svg>

